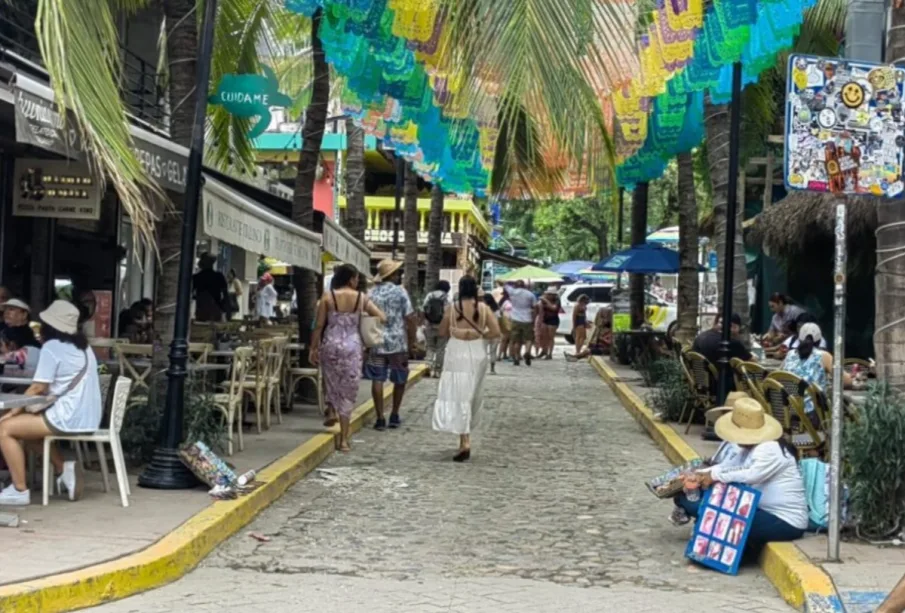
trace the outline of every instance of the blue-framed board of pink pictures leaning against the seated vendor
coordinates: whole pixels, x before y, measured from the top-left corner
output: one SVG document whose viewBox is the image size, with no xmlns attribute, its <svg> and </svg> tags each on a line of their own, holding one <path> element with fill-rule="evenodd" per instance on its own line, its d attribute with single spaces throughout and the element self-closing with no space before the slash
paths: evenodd
<svg viewBox="0 0 905 613">
<path fill-rule="evenodd" d="M 714 483 L 704 493 L 685 556 L 728 575 L 737 575 L 760 492 L 738 483 Z"/>
</svg>

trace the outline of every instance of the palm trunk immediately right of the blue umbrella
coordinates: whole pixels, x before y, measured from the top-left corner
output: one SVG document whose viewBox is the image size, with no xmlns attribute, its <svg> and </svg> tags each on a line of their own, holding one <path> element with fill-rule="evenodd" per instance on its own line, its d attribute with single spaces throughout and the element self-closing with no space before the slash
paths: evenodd
<svg viewBox="0 0 905 613">
<path fill-rule="evenodd" d="M 694 192 L 694 165 L 691 153 L 680 153 L 679 179 L 679 296 L 676 337 L 691 341 L 698 326 L 698 203 Z"/>
</svg>

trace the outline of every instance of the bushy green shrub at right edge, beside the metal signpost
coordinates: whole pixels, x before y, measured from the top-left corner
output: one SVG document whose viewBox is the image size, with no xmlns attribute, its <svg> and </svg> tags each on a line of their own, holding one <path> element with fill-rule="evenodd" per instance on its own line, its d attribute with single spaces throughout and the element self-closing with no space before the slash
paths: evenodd
<svg viewBox="0 0 905 613">
<path fill-rule="evenodd" d="M 844 449 L 859 532 L 895 534 L 905 514 L 905 397 L 886 382 L 873 385 L 857 421 L 846 424 Z"/>
</svg>

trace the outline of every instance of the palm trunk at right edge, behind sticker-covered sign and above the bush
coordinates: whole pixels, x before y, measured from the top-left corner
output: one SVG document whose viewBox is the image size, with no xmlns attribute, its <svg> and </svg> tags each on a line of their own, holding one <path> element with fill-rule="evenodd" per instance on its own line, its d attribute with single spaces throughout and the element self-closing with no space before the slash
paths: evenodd
<svg viewBox="0 0 905 613">
<path fill-rule="evenodd" d="M 886 57 L 905 57 L 905 8 L 891 14 Z M 877 270 L 874 353 L 877 377 L 905 389 L 905 203 L 885 200 L 877 205 Z M 837 358 L 841 359 L 841 358 Z"/>
</svg>

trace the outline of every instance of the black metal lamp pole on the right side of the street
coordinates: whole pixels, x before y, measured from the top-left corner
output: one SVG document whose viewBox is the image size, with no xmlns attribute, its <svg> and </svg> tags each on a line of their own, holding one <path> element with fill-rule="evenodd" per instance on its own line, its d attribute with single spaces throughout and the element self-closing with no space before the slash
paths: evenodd
<svg viewBox="0 0 905 613">
<path fill-rule="evenodd" d="M 729 368 L 729 337 L 732 333 L 732 288 L 735 284 L 735 216 L 738 205 L 738 150 L 739 128 L 742 117 L 742 63 L 732 65 L 732 103 L 729 109 L 729 184 L 726 186 L 726 244 L 723 245 L 723 305 L 722 339 L 718 368 L 720 373 L 717 401 L 722 405 L 729 395 L 731 369 Z"/>
</svg>

